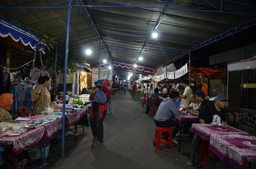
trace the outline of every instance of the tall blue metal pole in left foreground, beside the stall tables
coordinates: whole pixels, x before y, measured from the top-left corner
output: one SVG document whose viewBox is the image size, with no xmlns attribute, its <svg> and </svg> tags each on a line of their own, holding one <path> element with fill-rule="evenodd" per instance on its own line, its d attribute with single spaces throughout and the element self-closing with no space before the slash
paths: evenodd
<svg viewBox="0 0 256 169">
<path fill-rule="evenodd" d="M 67 21 L 67 38 L 66 38 L 66 51 L 65 51 L 65 66 L 64 66 L 64 91 L 63 95 L 66 96 L 66 84 L 67 84 L 67 71 L 68 71 L 68 40 L 69 40 L 69 27 L 70 27 L 70 12 L 71 12 L 71 0 L 68 0 L 68 21 Z M 65 111 L 66 111 L 66 97 L 63 97 L 63 111 L 62 111 L 62 157 L 65 154 Z"/>
</svg>

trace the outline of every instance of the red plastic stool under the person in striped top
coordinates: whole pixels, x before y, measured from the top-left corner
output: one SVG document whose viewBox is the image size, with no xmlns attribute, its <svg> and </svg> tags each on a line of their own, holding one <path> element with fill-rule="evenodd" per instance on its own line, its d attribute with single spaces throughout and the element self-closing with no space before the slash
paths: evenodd
<svg viewBox="0 0 256 169">
<path fill-rule="evenodd" d="M 163 131 L 166 132 L 165 137 L 162 137 Z M 162 141 L 162 140 L 165 140 L 165 141 Z M 161 144 L 170 145 L 170 149 L 171 150 L 173 149 L 173 147 L 172 147 L 172 128 L 156 127 L 156 133 L 155 133 L 153 145 L 156 145 L 156 149 L 159 150 Z"/>
</svg>

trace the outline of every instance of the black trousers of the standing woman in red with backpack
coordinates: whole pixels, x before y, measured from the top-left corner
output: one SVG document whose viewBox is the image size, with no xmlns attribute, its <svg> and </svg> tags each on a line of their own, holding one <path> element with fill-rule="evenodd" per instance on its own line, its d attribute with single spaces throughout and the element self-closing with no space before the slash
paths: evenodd
<svg viewBox="0 0 256 169">
<path fill-rule="evenodd" d="M 92 130 L 92 135 L 97 136 L 98 142 L 103 142 L 104 137 L 104 128 L 103 128 L 103 121 L 106 116 L 107 110 L 104 111 L 102 114 L 101 119 L 99 120 L 99 112 L 92 111 L 93 118 L 90 118 L 90 126 Z"/>
</svg>

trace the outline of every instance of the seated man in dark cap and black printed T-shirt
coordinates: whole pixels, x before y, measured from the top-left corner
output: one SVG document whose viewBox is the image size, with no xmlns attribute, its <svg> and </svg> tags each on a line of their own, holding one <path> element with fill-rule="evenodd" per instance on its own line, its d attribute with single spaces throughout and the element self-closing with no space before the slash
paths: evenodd
<svg viewBox="0 0 256 169">
<path fill-rule="evenodd" d="M 212 122 L 221 123 L 226 121 L 225 110 L 226 102 L 228 101 L 226 95 L 219 94 L 216 98 L 215 103 L 207 103 L 200 110 L 198 115 L 199 122 L 201 124 L 210 124 Z M 191 142 L 191 155 L 187 165 L 192 166 L 194 164 L 194 155 L 196 150 L 196 134 Z"/>
</svg>

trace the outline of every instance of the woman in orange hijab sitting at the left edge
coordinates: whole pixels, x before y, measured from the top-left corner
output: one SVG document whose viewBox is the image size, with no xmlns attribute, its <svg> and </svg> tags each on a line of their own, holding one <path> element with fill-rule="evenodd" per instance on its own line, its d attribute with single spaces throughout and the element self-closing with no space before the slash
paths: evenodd
<svg viewBox="0 0 256 169">
<path fill-rule="evenodd" d="M 9 113 L 11 105 L 13 104 L 12 96 L 13 94 L 10 93 L 0 95 L 0 121 L 12 120 L 12 116 Z"/>
</svg>

